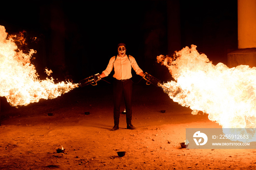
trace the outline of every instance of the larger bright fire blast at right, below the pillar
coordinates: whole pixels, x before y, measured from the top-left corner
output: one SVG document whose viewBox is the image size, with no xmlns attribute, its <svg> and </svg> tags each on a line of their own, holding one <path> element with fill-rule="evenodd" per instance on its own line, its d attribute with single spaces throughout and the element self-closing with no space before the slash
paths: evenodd
<svg viewBox="0 0 256 170">
<path fill-rule="evenodd" d="M 215 66 L 194 45 L 157 60 L 175 79 L 162 84 L 174 102 L 191 108 L 192 114 L 203 111 L 223 128 L 256 128 L 256 67 Z"/>
</svg>

